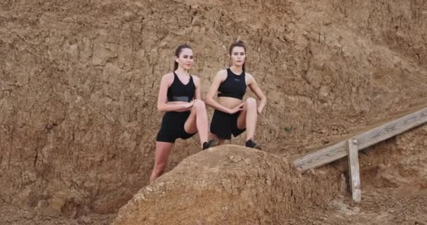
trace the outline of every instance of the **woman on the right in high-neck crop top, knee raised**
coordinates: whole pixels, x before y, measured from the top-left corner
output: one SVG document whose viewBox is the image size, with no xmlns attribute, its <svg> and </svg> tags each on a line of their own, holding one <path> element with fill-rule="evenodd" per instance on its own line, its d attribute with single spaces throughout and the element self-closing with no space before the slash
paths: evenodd
<svg viewBox="0 0 427 225">
<path fill-rule="evenodd" d="M 211 121 L 211 134 L 218 138 L 220 144 L 225 139 L 242 134 L 245 130 L 246 146 L 250 148 L 261 147 L 255 143 L 254 135 L 258 114 L 263 111 L 267 98 L 259 88 L 254 77 L 245 71 L 246 46 L 242 41 L 237 41 L 229 49 L 231 66 L 220 70 L 206 95 L 206 104 L 215 108 Z M 254 92 L 255 98 L 243 100 L 247 86 Z M 218 93 L 218 99 L 213 97 Z"/>
</svg>

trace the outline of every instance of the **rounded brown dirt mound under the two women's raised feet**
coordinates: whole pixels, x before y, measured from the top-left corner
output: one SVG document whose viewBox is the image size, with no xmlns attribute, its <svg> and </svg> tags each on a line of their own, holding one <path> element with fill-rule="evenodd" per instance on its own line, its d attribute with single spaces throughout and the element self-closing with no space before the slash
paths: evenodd
<svg viewBox="0 0 427 225">
<path fill-rule="evenodd" d="M 339 193 L 339 184 L 323 186 L 336 179 L 301 176 L 270 153 L 215 147 L 141 189 L 113 224 L 281 224 L 301 207 Z"/>
</svg>

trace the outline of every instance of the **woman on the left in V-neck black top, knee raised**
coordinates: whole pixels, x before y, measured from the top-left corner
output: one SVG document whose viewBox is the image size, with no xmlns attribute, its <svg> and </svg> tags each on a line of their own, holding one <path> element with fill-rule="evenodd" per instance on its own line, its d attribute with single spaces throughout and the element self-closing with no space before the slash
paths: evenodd
<svg viewBox="0 0 427 225">
<path fill-rule="evenodd" d="M 155 167 L 150 181 L 163 174 L 176 139 L 189 139 L 198 132 L 202 149 L 212 144 L 208 142 L 206 106 L 200 100 L 200 79 L 188 73 L 193 63 L 192 49 L 180 45 L 175 56 L 174 71 L 164 75 L 160 83 L 157 108 L 166 113 L 157 134 Z"/>
</svg>

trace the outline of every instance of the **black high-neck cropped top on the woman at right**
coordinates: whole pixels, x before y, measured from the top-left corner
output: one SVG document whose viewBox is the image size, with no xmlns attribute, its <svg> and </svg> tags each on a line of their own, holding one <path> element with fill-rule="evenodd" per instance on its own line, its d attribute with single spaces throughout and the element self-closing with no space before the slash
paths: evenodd
<svg viewBox="0 0 427 225">
<path fill-rule="evenodd" d="M 230 68 L 227 69 L 227 78 L 218 87 L 218 97 L 231 97 L 243 99 L 246 93 L 246 80 L 244 71 L 241 75 L 235 75 Z"/>
</svg>

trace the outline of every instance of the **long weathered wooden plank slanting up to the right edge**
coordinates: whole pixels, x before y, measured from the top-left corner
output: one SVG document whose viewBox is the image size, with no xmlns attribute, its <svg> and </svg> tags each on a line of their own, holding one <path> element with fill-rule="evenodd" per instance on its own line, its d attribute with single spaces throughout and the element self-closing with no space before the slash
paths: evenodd
<svg viewBox="0 0 427 225">
<path fill-rule="evenodd" d="M 351 137 L 356 139 L 358 149 L 362 150 L 369 146 L 401 134 L 404 131 L 417 127 L 427 122 L 427 108 L 405 115 L 397 120 L 393 120 L 379 127 L 365 131 Z M 348 139 L 347 139 L 348 140 Z M 332 146 L 308 153 L 301 158 L 294 160 L 294 165 L 302 170 L 320 167 L 329 162 L 333 162 L 348 155 L 348 141 L 340 141 Z"/>
</svg>

